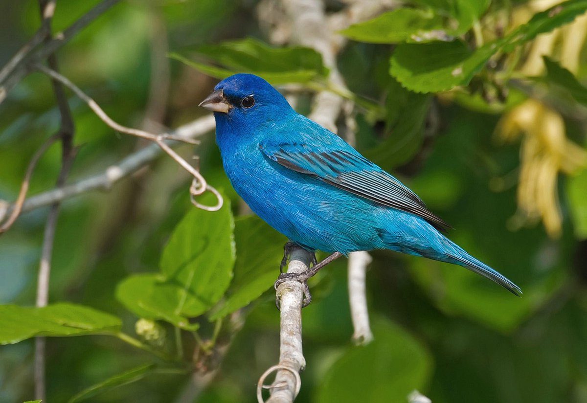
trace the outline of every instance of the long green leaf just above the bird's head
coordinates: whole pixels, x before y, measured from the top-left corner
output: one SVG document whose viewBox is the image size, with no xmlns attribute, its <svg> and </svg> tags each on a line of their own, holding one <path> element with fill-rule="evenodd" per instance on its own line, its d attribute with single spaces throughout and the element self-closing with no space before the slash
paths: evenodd
<svg viewBox="0 0 587 403">
<path fill-rule="evenodd" d="M 253 38 L 204 45 L 197 49 L 197 54 L 217 63 L 221 68 L 193 62 L 177 53 L 171 53 L 170 57 L 218 79 L 234 73 L 253 73 L 272 84 L 283 84 L 305 83 L 315 77 L 328 75 L 322 56 L 313 49 L 301 46 L 273 48 Z"/>
</svg>

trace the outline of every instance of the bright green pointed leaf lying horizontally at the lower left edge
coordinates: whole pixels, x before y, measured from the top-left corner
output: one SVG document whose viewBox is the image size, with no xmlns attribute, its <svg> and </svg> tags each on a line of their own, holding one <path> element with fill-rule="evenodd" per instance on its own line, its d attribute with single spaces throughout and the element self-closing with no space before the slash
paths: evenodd
<svg viewBox="0 0 587 403">
<path fill-rule="evenodd" d="M 0 344 L 35 336 L 117 333 L 121 321 L 109 313 L 71 303 L 46 307 L 0 306 Z"/>
</svg>

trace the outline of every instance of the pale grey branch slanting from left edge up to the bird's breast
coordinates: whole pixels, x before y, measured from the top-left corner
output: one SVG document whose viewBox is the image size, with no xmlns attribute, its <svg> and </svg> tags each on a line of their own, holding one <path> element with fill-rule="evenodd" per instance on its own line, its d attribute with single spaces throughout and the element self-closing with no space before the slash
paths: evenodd
<svg viewBox="0 0 587 403">
<path fill-rule="evenodd" d="M 174 137 L 197 138 L 213 129 L 214 116 L 207 115 L 184 126 L 180 126 L 176 130 L 171 131 L 171 133 L 173 133 Z M 167 141 L 167 143 L 169 142 Z M 174 144 L 178 143 L 174 142 Z M 149 144 L 123 158 L 116 164 L 110 165 L 100 174 L 92 175 L 63 188 L 51 189 L 26 199 L 21 206 L 22 212 L 41 208 L 53 204 L 56 201 L 62 201 L 63 199 L 72 198 L 96 189 L 108 190 L 116 182 L 128 177 L 151 161 L 154 161 L 161 154 L 161 151 L 161 148 L 157 144 Z M 6 214 L 14 214 L 16 207 L 16 204 L 10 205 L 4 209 L 4 215 L 0 211 L 0 221 L 2 221 L 2 218 Z"/>
</svg>

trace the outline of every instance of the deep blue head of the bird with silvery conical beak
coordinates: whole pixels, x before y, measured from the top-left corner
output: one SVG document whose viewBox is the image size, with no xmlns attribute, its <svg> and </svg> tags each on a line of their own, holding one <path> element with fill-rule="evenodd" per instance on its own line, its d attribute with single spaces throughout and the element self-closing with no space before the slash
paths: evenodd
<svg viewBox="0 0 587 403">
<path fill-rule="evenodd" d="M 292 110 L 288 101 L 268 82 L 255 74 L 234 74 L 216 84 L 214 91 L 200 103 L 214 111 L 217 125 L 246 125 L 254 128 Z"/>
</svg>

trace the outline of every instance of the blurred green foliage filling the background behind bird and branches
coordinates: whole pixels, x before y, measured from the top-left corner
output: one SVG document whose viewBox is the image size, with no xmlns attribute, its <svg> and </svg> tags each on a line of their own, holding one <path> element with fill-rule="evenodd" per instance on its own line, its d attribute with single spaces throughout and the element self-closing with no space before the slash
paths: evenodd
<svg viewBox="0 0 587 403">
<path fill-rule="evenodd" d="M 97 2 L 58 1 L 53 31 Z M 434 403 L 586 402 L 587 170 L 556 168 L 558 237 L 537 221 L 518 225 L 524 146 L 494 134 L 512 107 L 535 97 L 564 119 L 562 138 L 581 152 L 587 144 L 584 38 L 565 34 L 580 42 L 577 60 L 557 53 L 563 43 L 538 55 L 544 73 L 521 67 L 534 40 L 573 22 L 587 2 L 552 2 L 542 12 L 535 3 L 414 0 L 351 25 L 340 32 L 351 40 L 338 59 L 349 91 L 328 81 L 315 50 L 268 45 L 271 23 L 258 11 L 269 1 L 120 2 L 57 55 L 66 77 L 131 127 L 153 116 L 156 127 L 177 127 L 203 115 L 198 102 L 234 72 L 295 83 L 301 111 L 316 90 L 355 101 L 357 148 L 451 223 L 451 239 L 524 291 L 517 299 L 460 267 L 375 251 L 367 273 L 375 340 L 353 346 L 346 262 L 333 262 L 310 282 L 296 401 L 405 402 L 417 389 Z M 527 19 L 517 22 L 519 13 Z M 35 32 L 38 14 L 32 0 L 0 4 L 0 32 L 9 33 L 0 35 L 0 65 Z M 154 100 L 163 106 L 149 116 Z M 144 145 L 113 133 L 75 96 L 69 101 L 80 146 L 69 182 Z M 0 116 L 0 199 L 13 201 L 31 155 L 59 126 L 49 80 L 26 76 Z M 47 340 L 49 402 L 184 402 L 194 365 L 219 364 L 191 401 L 255 401 L 259 375 L 278 360 L 272 284 L 285 238 L 239 201 L 213 134 L 201 140 L 178 152 L 200 156 L 224 207 L 191 206 L 188 175 L 163 157 L 107 192 L 66 200 L 46 308 L 31 306 L 48 208 L 23 214 L 0 237 L 0 401 L 33 398 L 31 337 L 81 334 Z M 551 143 L 544 153 L 554 153 Z M 52 188 L 59 168 L 54 145 L 29 194 Z M 215 347 L 229 345 L 214 363 Z"/>
</svg>

